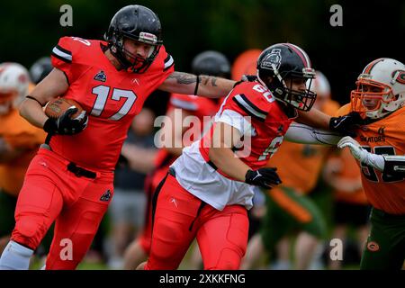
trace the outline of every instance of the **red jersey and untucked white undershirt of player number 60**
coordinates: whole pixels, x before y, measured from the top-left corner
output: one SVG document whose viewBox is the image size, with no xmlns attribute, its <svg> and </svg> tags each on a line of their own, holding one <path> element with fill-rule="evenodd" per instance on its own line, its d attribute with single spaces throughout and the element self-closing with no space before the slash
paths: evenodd
<svg viewBox="0 0 405 288">
<path fill-rule="evenodd" d="M 281 145 L 293 118 L 285 115 L 266 87 L 247 82 L 237 85 L 225 98 L 216 121 L 229 124 L 245 137 L 247 147 L 235 154 L 247 166 L 257 169 L 265 166 Z M 230 204 L 250 209 L 253 198 L 250 185 L 232 180 L 207 165 L 214 127 L 200 141 L 184 148 L 182 157 L 173 164 L 176 179 L 185 190 L 218 210 Z"/>
</svg>

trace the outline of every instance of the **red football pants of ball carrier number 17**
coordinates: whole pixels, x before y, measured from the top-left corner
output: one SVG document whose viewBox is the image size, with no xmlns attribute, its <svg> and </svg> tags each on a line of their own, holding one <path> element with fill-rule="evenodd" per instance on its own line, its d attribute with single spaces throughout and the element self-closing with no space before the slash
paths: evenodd
<svg viewBox="0 0 405 288">
<path fill-rule="evenodd" d="M 46 269 L 75 269 L 85 257 L 113 194 L 112 173 L 95 179 L 67 170 L 68 161 L 40 148 L 25 175 L 12 239 L 36 249 L 56 220 Z M 109 193 L 108 193 L 109 191 Z"/>
</svg>

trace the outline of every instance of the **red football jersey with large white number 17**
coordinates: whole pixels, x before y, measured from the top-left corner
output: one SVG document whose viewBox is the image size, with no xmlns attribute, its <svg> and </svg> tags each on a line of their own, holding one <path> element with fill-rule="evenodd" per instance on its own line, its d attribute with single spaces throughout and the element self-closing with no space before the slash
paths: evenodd
<svg viewBox="0 0 405 288">
<path fill-rule="evenodd" d="M 53 151 L 96 171 L 112 171 L 127 137 L 130 122 L 149 94 L 174 71 L 174 60 L 162 46 L 143 74 L 117 71 L 105 57 L 106 42 L 63 37 L 52 50 L 52 65 L 65 73 L 67 92 L 89 116 L 88 125 L 73 135 L 50 139 Z"/>
</svg>

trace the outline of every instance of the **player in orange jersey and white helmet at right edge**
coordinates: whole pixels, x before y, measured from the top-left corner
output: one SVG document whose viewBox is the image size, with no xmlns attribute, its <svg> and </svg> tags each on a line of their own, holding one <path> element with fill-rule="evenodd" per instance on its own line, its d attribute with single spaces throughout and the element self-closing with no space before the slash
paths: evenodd
<svg viewBox="0 0 405 288">
<path fill-rule="evenodd" d="M 378 58 L 358 76 L 351 104 L 340 114 L 359 112 L 356 138 L 340 139 L 362 170 L 371 212 L 361 269 L 401 269 L 405 260 L 405 66 Z"/>
</svg>

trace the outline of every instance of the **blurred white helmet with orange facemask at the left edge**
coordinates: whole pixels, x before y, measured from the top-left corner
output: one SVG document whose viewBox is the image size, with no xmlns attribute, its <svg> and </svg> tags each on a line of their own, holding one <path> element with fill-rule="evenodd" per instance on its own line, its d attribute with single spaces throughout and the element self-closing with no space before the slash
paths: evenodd
<svg viewBox="0 0 405 288">
<path fill-rule="evenodd" d="M 0 114 L 5 114 L 22 102 L 28 94 L 30 76 L 18 63 L 0 64 Z"/>
</svg>

